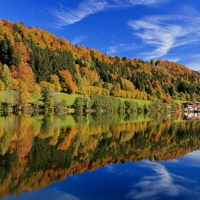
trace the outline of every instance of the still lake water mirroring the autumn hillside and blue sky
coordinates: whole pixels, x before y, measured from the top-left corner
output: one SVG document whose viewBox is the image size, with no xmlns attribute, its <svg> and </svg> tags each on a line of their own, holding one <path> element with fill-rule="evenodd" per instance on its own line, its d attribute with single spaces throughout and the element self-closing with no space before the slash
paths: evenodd
<svg viewBox="0 0 200 200">
<path fill-rule="evenodd" d="M 200 199 L 199 146 L 180 115 L 2 116 L 0 199 Z"/>
</svg>

